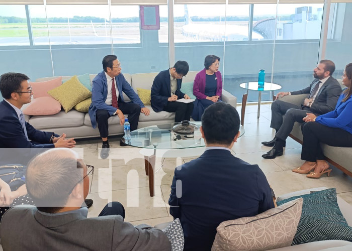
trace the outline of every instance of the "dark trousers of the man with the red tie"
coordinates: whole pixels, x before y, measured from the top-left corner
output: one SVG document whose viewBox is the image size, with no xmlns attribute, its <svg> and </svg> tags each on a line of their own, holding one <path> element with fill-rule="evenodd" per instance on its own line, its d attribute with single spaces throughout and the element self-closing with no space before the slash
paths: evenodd
<svg viewBox="0 0 352 251">
<path fill-rule="evenodd" d="M 136 130 L 138 127 L 141 107 L 138 104 L 134 104 L 132 102 L 119 102 L 119 109 L 123 114 L 128 114 L 128 122 L 131 125 L 131 132 Z M 96 114 L 100 137 L 107 138 L 109 136 L 108 118 L 110 117 L 110 114 L 107 110 L 104 109 L 98 109 Z"/>
</svg>

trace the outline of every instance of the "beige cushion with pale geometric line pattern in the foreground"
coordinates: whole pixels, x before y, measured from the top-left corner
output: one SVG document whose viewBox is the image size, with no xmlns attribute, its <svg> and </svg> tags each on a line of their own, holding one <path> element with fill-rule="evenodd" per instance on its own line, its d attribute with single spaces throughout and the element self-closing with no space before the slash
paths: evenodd
<svg viewBox="0 0 352 251">
<path fill-rule="evenodd" d="M 220 223 L 212 251 L 255 251 L 289 246 L 301 217 L 302 201 L 297 199 L 253 217 Z"/>
</svg>

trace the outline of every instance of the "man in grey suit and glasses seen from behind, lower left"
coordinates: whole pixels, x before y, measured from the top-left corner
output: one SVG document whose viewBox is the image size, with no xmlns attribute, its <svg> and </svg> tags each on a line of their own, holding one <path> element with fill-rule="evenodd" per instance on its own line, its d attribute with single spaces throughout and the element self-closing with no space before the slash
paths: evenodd
<svg viewBox="0 0 352 251">
<path fill-rule="evenodd" d="M 93 171 L 70 149 L 35 157 L 26 183 L 36 207 L 13 207 L 5 213 L 0 224 L 4 250 L 171 250 L 161 230 L 124 222 L 119 202 L 87 218 L 88 209 L 80 205 Z"/>
</svg>

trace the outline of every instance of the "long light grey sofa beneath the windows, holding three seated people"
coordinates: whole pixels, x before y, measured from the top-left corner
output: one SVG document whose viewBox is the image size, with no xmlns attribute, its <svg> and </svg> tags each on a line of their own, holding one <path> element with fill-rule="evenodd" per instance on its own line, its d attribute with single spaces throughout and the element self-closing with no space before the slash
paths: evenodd
<svg viewBox="0 0 352 251">
<path fill-rule="evenodd" d="M 190 71 L 183 79 L 183 83 L 193 82 L 198 72 Z M 139 73 L 139 74 L 128 74 L 124 73 L 126 80 L 131 84 L 135 92 L 137 88 L 150 89 L 153 83 L 154 77 L 158 73 Z M 97 74 L 90 74 L 91 82 Z M 56 77 L 45 77 L 38 78 L 36 81 L 46 81 Z M 68 79 L 70 76 L 63 76 L 62 79 Z M 125 101 L 130 99 L 124 94 Z M 223 89 L 222 101 L 229 103 L 236 108 L 237 98 L 231 95 L 229 92 Z M 172 123 L 174 121 L 174 112 L 154 112 L 150 105 L 147 105 L 150 109 L 150 115 L 145 116 L 140 114 L 138 128 L 152 126 L 155 124 Z M 79 112 L 74 109 L 65 113 L 61 110 L 55 115 L 46 116 L 26 116 L 26 120 L 32 124 L 38 130 L 55 132 L 61 135 L 62 133 L 67 134 L 67 137 L 79 138 L 91 138 L 99 137 L 98 128 L 93 129 L 91 124 L 91 118 L 88 113 Z M 120 135 L 123 134 L 123 127 L 120 126 L 120 119 L 118 116 L 112 116 L 108 120 L 109 122 L 109 135 Z"/>
</svg>

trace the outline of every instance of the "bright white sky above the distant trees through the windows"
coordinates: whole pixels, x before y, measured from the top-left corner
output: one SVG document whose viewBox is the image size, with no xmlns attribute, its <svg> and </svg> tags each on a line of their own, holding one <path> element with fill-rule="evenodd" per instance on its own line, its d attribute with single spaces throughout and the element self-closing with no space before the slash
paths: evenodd
<svg viewBox="0 0 352 251">
<path fill-rule="evenodd" d="M 312 6 L 313 14 L 317 8 L 323 8 L 323 4 L 281 4 L 279 15 L 290 15 L 295 13 L 295 8 Z M 199 17 L 225 16 L 225 5 L 188 5 L 189 15 Z M 30 6 L 32 18 L 45 18 L 44 6 Z M 138 17 L 138 6 L 111 6 L 112 18 Z M 174 6 L 174 17 L 184 16 L 184 5 Z M 226 16 L 248 16 L 249 5 L 228 5 Z M 254 5 L 254 16 L 275 15 L 276 5 Z M 48 17 L 72 18 L 73 16 L 94 16 L 109 19 L 108 6 L 47 6 Z M 15 16 L 26 18 L 24 6 L 0 5 L 0 16 Z M 167 17 L 167 6 L 160 6 L 160 17 Z"/>
</svg>

